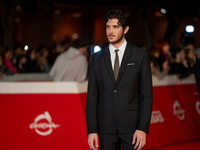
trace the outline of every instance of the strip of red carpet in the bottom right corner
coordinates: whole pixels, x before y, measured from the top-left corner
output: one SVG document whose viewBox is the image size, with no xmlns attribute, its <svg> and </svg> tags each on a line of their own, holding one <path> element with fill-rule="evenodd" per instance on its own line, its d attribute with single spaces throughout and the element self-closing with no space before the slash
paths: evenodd
<svg viewBox="0 0 200 150">
<path fill-rule="evenodd" d="M 200 150 L 200 140 L 178 143 L 148 150 Z"/>
</svg>

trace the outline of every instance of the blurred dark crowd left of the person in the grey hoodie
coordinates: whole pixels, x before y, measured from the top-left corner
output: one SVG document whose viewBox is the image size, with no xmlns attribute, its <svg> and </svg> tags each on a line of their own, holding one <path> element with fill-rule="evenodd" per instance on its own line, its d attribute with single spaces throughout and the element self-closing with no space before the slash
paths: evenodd
<svg viewBox="0 0 200 150">
<path fill-rule="evenodd" d="M 22 46 L 9 49 L 0 46 L 0 78 L 20 73 L 48 73 L 57 56 L 68 49 L 70 38 L 66 37 L 51 47 L 40 45 L 37 49 L 24 50 Z"/>
</svg>

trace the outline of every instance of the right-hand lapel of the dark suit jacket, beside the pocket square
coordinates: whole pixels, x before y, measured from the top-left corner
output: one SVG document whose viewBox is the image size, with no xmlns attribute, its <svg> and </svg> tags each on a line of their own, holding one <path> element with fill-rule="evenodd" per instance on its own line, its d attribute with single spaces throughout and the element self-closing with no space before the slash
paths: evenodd
<svg viewBox="0 0 200 150">
<path fill-rule="evenodd" d="M 117 86 L 117 84 L 119 83 L 119 81 L 120 81 L 120 79 L 121 79 L 121 77 L 124 73 L 124 70 L 127 66 L 127 63 L 128 63 L 128 60 L 129 60 L 131 54 L 132 54 L 132 45 L 127 43 L 126 49 L 125 49 L 125 52 L 124 52 L 124 56 L 123 56 L 123 59 L 122 59 L 122 62 L 121 62 L 121 66 L 120 66 L 120 69 L 119 69 L 117 82 L 115 83 L 115 86 Z"/>
</svg>

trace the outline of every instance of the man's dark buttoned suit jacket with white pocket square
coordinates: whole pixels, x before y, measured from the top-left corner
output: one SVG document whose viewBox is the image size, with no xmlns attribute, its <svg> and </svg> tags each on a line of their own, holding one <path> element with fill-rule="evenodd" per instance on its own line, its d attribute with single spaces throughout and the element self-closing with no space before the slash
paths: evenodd
<svg viewBox="0 0 200 150">
<path fill-rule="evenodd" d="M 127 43 L 117 81 L 109 48 L 92 56 L 87 94 L 87 134 L 148 132 L 152 111 L 149 54 Z"/>
</svg>

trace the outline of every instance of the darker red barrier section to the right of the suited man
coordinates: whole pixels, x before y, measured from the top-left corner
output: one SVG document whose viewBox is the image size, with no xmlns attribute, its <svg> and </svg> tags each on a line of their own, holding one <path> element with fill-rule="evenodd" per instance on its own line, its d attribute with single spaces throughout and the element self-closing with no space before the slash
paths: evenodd
<svg viewBox="0 0 200 150">
<path fill-rule="evenodd" d="M 199 127 L 196 84 L 153 87 L 153 112 L 145 148 L 200 139 Z"/>
</svg>

